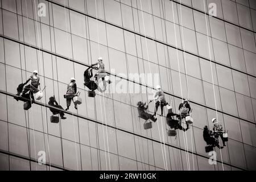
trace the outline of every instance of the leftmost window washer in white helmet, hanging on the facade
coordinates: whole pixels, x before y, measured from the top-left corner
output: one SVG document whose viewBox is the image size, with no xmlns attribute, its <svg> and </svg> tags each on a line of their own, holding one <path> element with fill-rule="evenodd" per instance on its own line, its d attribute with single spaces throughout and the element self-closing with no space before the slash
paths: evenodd
<svg viewBox="0 0 256 182">
<path fill-rule="evenodd" d="M 20 97 L 23 97 L 23 95 L 26 94 L 30 90 L 32 91 L 32 93 L 36 93 L 39 91 L 38 86 L 40 85 L 40 83 L 39 83 L 40 78 L 38 76 L 38 71 L 35 70 L 33 72 L 33 75 L 31 75 L 30 78 L 28 78 L 28 80 L 24 83 L 24 85 L 26 85 L 30 80 L 31 80 L 30 85 L 27 85 L 24 87 L 22 96 L 20 96 Z"/>
</svg>

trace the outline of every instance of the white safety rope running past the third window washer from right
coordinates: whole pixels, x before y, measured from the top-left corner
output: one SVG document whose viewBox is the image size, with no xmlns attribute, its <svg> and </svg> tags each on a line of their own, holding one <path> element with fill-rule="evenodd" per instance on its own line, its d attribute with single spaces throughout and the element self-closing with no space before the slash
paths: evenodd
<svg viewBox="0 0 256 182">
<path fill-rule="evenodd" d="M 141 2 L 141 0 L 140 0 Z M 146 49 L 147 49 L 147 59 L 148 59 L 148 68 L 150 70 L 150 73 L 151 73 L 151 68 L 150 68 L 150 63 L 149 63 L 149 54 L 148 54 L 148 46 L 147 46 L 147 39 L 146 39 L 146 28 L 145 28 L 145 24 L 144 24 L 144 16 L 143 16 L 143 9 L 142 9 L 142 2 L 141 2 L 141 13 L 142 13 L 142 21 L 143 21 L 143 28 L 144 28 L 144 38 L 145 38 L 145 42 L 146 42 Z M 152 28 L 152 27 L 151 27 Z M 152 73 L 151 73 L 152 74 Z M 154 93 L 154 89 L 152 89 L 152 93 Z M 154 100 L 154 99 L 153 99 Z M 154 100 L 154 104 L 155 104 L 155 100 Z M 155 106 L 155 110 L 156 110 L 156 106 Z M 157 117 L 157 114 L 156 114 L 156 118 L 158 119 Z M 158 122 L 157 122 L 158 123 Z M 160 145 L 161 145 L 161 150 L 162 150 L 162 155 L 163 155 L 163 162 L 164 162 L 164 169 L 167 171 L 168 168 L 167 168 L 167 159 L 166 159 L 166 148 L 165 148 L 165 144 L 164 144 L 164 141 L 163 141 L 163 145 L 164 145 L 164 151 L 163 151 L 163 146 L 162 146 L 162 138 L 161 138 L 161 134 L 160 134 L 160 128 L 159 128 L 159 123 L 158 123 L 158 131 L 159 131 L 159 138 L 160 138 Z"/>
</svg>

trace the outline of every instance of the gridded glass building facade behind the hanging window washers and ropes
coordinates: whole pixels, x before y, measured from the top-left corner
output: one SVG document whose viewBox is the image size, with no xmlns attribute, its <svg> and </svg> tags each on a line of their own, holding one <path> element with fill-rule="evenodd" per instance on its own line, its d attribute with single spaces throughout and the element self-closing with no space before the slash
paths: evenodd
<svg viewBox="0 0 256 182">
<path fill-rule="evenodd" d="M 1 0 L 0 169 L 255 170 L 255 37 L 254 0 Z M 115 83 L 88 97 L 84 71 L 100 56 Z M 25 111 L 11 94 L 35 69 L 46 89 Z M 176 138 L 166 117 L 150 130 L 138 117 L 156 86 L 150 74 L 176 112 L 191 101 L 194 123 Z M 82 104 L 52 123 L 49 97 L 65 106 L 71 77 Z M 216 165 L 203 139 L 212 118 L 229 134 Z"/>
</svg>

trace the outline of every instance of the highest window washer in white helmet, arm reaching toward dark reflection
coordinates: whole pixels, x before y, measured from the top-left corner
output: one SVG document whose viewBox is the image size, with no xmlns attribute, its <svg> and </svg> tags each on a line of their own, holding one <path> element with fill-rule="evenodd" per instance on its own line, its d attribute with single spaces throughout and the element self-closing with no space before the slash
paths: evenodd
<svg viewBox="0 0 256 182">
<path fill-rule="evenodd" d="M 97 65 L 97 73 L 95 74 L 94 78 L 95 78 L 95 82 L 98 85 L 98 80 L 99 78 L 102 79 L 103 85 L 104 85 L 104 89 L 103 92 L 106 91 L 106 80 L 105 80 L 105 76 L 107 75 L 106 71 L 105 71 L 105 65 L 104 63 L 102 63 L 102 57 L 98 58 L 98 63 L 96 64 L 92 64 L 92 67 Z M 108 80 L 108 83 L 111 84 L 111 81 Z"/>
</svg>

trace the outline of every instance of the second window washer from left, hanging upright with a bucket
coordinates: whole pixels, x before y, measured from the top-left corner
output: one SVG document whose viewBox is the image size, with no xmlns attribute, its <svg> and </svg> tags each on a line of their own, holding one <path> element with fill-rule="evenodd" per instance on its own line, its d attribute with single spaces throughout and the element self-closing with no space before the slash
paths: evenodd
<svg viewBox="0 0 256 182">
<path fill-rule="evenodd" d="M 75 78 L 70 78 L 70 83 L 67 86 L 67 93 L 64 95 L 64 97 L 67 100 L 67 109 L 69 109 L 69 106 L 71 105 L 71 100 L 73 101 L 73 98 L 76 96 L 76 91 L 77 91 L 77 87 L 76 87 L 76 80 Z M 73 101 L 73 103 L 75 104 L 75 102 Z M 75 109 L 77 109 L 77 104 L 75 104 Z"/>
</svg>

